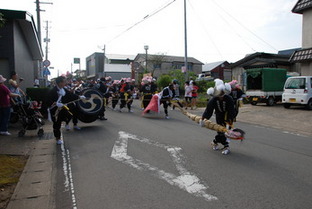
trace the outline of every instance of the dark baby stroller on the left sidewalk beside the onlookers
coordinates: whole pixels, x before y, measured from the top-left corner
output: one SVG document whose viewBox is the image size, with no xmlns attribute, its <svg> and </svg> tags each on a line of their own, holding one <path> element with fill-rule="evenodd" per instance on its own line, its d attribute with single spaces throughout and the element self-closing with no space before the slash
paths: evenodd
<svg viewBox="0 0 312 209">
<path fill-rule="evenodd" d="M 18 136 L 22 137 L 25 135 L 26 130 L 38 130 L 37 135 L 42 137 L 44 135 L 44 130 L 42 126 L 44 125 L 43 116 L 39 109 L 41 108 L 41 103 L 37 101 L 21 101 L 13 102 L 13 112 L 11 113 L 11 123 L 21 121 L 23 129 L 18 132 Z"/>
</svg>

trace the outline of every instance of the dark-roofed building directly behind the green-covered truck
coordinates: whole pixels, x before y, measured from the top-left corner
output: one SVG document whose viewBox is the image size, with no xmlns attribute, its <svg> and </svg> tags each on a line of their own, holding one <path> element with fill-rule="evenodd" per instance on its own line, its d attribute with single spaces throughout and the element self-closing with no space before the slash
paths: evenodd
<svg viewBox="0 0 312 209">
<path fill-rule="evenodd" d="M 278 54 L 256 52 L 246 55 L 243 59 L 229 65 L 232 70 L 232 79 L 245 86 L 245 70 L 251 68 L 284 68 L 287 72 L 296 72 L 296 66 L 289 62 L 289 58 L 295 50 L 284 50 Z"/>
</svg>

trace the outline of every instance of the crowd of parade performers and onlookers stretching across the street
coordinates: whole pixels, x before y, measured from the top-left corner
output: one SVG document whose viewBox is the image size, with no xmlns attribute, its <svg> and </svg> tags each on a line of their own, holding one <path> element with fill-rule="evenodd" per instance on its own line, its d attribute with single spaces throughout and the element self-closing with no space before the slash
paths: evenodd
<svg viewBox="0 0 312 209">
<path fill-rule="evenodd" d="M 6 78 L 0 75 L 0 134 L 10 135 L 8 132 L 8 121 L 12 101 L 19 97 L 25 96 L 25 93 L 20 89 L 19 85 L 23 81 L 18 79 L 18 75 L 12 72 L 8 87 L 4 85 Z M 216 122 L 219 125 L 230 126 L 236 119 L 239 112 L 239 102 L 244 93 L 240 89 L 236 80 L 224 84 L 220 79 L 215 80 L 215 88 L 210 88 L 207 94 L 212 98 L 209 100 L 206 110 L 202 115 L 203 119 L 210 119 L 213 112 L 216 114 Z M 37 85 L 37 83 L 36 83 Z M 49 118 L 53 121 L 53 133 L 58 144 L 62 144 L 61 139 L 61 124 L 65 122 L 65 129 L 70 130 L 70 121 L 73 123 L 73 129 L 80 130 L 78 126 L 77 115 L 79 111 L 75 102 L 78 100 L 86 100 L 81 91 L 86 88 L 92 88 L 99 91 L 103 97 L 103 107 L 101 108 L 98 119 L 107 120 L 105 117 L 105 108 L 110 106 L 114 111 L 123 112 L 124 108 L 128 112 L 133 112 L 133 99 L 141 100 L 141 109 L 143 113 L 150 111 L 159 112 L 159 106 L 162 105 L 165 113 L 165 118 L 169 119 L 168 107 L 174 109 L 177 103 L 181 108 L 196 109 L 199 87 L 192 79 L 184 83 L 184 102 L 181 100 L 181 88 L 176 79 L 161 91 L 158 89 L 156 79 L 151 76 L 143 77 L 139 86 L 135 80 L 131 78 L 122 78 L 121 80 L 112 80 L 111 77 L 103 77 L 98 80 L 78 81 L 69 79 L 65 76 L 59 76 L 55 79 L 54 87 L 49 91 L 47 105 L 49 107 Z M 68 105 L 66 105 L 68 104 Z M 66 108 L 65 108 L 66 107 Z M 224 148 L 223 152 L 229 152 L 228 142 L 224 133 L 218 133 L 212 142 L 213 149 L 218 149 L 218 143 L 221 143 Z"/>
</svg>

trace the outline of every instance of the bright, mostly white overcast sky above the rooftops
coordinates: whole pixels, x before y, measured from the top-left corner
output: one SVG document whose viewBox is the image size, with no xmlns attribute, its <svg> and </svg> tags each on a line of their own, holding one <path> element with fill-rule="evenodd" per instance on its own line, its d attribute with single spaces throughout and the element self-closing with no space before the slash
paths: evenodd
<svg viewBox="0 0 312 209">
<path fill-rule="evenodd" d="M 28 11 L 34 0 L 1 0 L 1 9 Z M 184 0 L 42 0 L 42 39 L 49 22 L 52 76 L 75 71 L 73 64 L 94 52 L 184 56 Z M 297 0 L 186 0 L 187 54 L 203 63 L 236 62 L 255 52 L 301 47 L 302 15 Z M 45 53 L 45 43 L 43 42 Z"/>
</svg>

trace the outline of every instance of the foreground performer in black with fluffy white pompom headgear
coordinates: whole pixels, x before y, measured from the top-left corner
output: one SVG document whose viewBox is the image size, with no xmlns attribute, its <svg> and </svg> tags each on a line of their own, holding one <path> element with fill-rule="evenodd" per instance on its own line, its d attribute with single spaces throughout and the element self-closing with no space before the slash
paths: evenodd
<svg viewBox="0 0 312 209">
<path fill-rule="evenodd" d="M 209 88 L 207 94 L 212 96 L 209 100 L 205 112 L 202 115 L 202 120 L 209 120 L 215 112 L 216 122 L 221 126 L 226 124 L 233 124 L 235 116 L 234 101 L 230 95 L 231 86 L 224 84 L 220 79 L 215 79 L 215 87 Z M 218 144 L 222 144 L 222 154 L 227 155 L 230 153 L 229 142 L 223 132 L 217 132 L 215 139 L 211 142 L 213 150 L 219 150 Z"/>
</svg>

